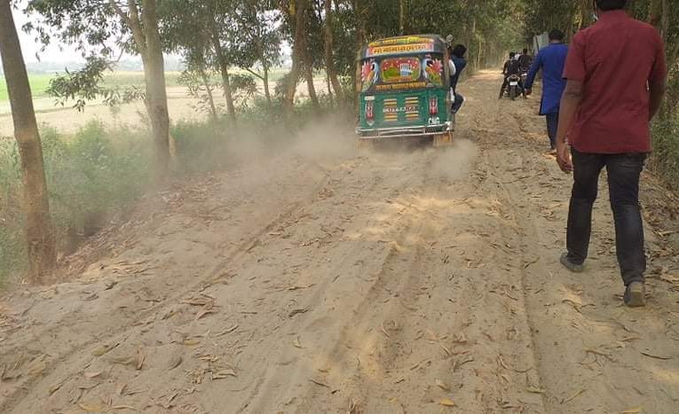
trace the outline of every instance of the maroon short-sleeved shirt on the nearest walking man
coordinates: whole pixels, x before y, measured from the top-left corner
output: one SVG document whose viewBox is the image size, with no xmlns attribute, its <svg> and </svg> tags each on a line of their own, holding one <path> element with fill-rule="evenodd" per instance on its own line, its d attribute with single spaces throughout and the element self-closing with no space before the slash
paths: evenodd
<svg viewBox="0 0 679 414">
<path fill-rule="evenodd" d="M 580 81 L 584 97 L 568 140 L 579 152 L 651 152 L 649 83 L 664 82 L 662 38 L 626 12 L 601 19 L 572 39 L 564 77 Z"/>
</svg>

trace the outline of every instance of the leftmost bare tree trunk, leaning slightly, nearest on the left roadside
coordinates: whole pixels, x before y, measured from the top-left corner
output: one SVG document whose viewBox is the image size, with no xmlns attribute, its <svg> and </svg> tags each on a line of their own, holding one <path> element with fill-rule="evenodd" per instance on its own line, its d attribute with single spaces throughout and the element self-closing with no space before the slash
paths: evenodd
<svg viewBox="0 0 679 414">
<path fill-rule="evenodd" d="M 0 55 L 10 96 L 14 137 L 19 145 L 21 157 L 23 209 L 26 213 L 28 242 L 28 277 L 37 283 L 54 269 L 56 247 L 44 175 L 43 146 L 38 134 L 33 97 L 9 0 L 0 0 Z"/>
</svg>

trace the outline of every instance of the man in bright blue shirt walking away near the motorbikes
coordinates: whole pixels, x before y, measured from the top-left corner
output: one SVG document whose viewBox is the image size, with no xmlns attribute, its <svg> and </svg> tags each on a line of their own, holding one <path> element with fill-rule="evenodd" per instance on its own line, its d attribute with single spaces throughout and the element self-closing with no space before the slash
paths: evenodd
<svg viewBox="0 0 679 414">
<path fill-rule="evenodd" d="M 564 66 L 568 56 L 568 46 L 564 44 L 564 32 L 554 29 L 549 32 L 549 45 L 543 48 L 533 61 L 525 80 L 525 91 L 531 94 L 535 75 L 542 69 L 542 102 L 540 114 L 547 117 L 547 133 L 552 152 L 557 149 L 557 128 L 559 105 L 564 94 Z"/>
</svg>

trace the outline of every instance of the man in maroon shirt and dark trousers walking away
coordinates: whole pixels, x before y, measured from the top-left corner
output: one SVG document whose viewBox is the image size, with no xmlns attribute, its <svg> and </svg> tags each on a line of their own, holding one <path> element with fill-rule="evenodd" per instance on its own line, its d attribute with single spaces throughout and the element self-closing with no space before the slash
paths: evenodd
<svg viewBox="0 0 679 414">
<path fill-rule="evenodd" d="M 605 167 L 624 301 L 639 307 L 645 305 L 646 270 L 639 177 L 651 152 L 649 122 L 667 88 L 667 65 L 658 31 L 628 17 L 626 5 L 627 0 L 594 0 L 598 21 L 573 37 L 566 59 L 557 162 L 573 172 L 574 184 L 568 253 L 561 263 L 575 272 L 583 270 L 592 206 Z"/>
</svg>

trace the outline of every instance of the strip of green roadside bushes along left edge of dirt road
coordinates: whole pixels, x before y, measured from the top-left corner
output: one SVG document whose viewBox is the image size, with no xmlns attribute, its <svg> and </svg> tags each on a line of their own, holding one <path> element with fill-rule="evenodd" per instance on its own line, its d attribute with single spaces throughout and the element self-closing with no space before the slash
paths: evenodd
<svg viewBox="0 0 679 414">
<path fill-rule="evenodd" d="M 336 113 L 328 95 L 320 95 L 320 111 L 308 99 L 296 105 L 288 121 L 280 100 L 269 105 L 255 98 L 241 107 L 238 127 L 228 120 L 180 121 L 171 126 L 178 157 L 173 176 L 232 167 L 243 154 L 265 155 L 290 145 L 296 131 Z M 41 127 L 45 175 L 59 251 L 69 253 L 130 207 L 148 190 L 153 165 L 152 141 L 146 130 L 107 129 L 91 121 L 74 135 Z M 16 142 L 0 139 L 0 282 L 26 267 L 21 209 L 20 157 Z"/>
</svg>

